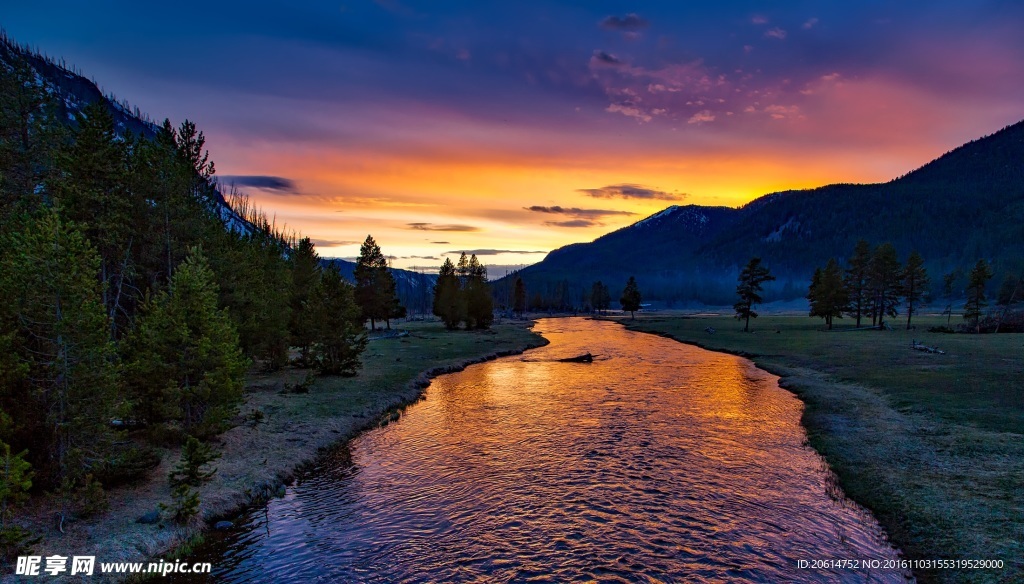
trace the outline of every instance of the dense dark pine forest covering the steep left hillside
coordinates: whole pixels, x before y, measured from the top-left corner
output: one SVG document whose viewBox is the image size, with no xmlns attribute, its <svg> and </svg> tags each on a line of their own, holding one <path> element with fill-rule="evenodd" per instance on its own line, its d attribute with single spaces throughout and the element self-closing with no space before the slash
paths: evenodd
<svg viewBox="0 0 1024 584">
<path fill-rule="evenodd" d="M 11 524 L 28 492 L 74 520 L 164 446 L 191 457 L 171 477 L 187 519 L 202 441 L 237 423 L 250 365 L 360 364 L 353 287 L 225 201 L 194 123 L 127 112 L 0 39 L 0 559 L 28 537 Z"/>
</svg>

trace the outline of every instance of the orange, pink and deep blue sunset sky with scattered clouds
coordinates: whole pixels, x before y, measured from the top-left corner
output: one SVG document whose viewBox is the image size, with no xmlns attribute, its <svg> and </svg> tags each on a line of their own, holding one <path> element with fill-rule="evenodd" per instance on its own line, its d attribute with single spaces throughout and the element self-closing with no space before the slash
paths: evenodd
<svg viewBox="0 0 1024 584">
<path fill-rule="evenodd" d="M 673 204 L 881 181 L 1024 118 L 1017 2 L 4 2 L 322 255 L 539 261 Z"/>
</svg>

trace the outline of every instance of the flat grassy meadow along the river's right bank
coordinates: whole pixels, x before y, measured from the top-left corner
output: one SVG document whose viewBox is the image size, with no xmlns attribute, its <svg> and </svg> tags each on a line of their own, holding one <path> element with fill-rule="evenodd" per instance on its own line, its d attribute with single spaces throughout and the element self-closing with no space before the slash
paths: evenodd
<svg viewBox="0 0 1024 584">
<path fill-rule="evenodd" d="M 1024 581 L 1024 335 L 826 332 L 819 320 L 658 314 L 629 328 L 752 358 L 806 404 L 811 445 L 907 558 L 1002 559 L 923 581 Z M 716 329 L 715 334 L 705 331 Z M 916 339 L 946 354 L 909 348 Z"/>
</svg>

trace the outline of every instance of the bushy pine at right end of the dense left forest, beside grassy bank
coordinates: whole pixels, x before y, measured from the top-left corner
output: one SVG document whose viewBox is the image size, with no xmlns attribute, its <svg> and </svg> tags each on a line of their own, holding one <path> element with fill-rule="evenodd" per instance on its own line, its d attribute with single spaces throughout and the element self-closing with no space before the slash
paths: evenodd
<svg viewBox="0 0 1024 584">
<path fill-rule="evenodd" d="M 326 375 L 355 375 L 362 365 L 359 356 L 367 337 L 352 287 L 337 269 L 326 269 L 310 303 L 316 323 L 312 352 L 317 369 Z"/>
</svg>

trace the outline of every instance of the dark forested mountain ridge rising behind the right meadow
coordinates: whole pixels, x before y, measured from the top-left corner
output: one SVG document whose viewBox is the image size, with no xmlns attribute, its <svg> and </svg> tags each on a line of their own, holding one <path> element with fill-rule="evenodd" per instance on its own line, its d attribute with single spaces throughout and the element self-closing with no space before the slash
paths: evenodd
<svg viewBox="0 0 1024 584">
<path fill-rule="evenodd" d="M 737 209 L 673 206 L 519 273 L 544 303 L 581 305 L 592 282 L 613 297 L 636 276 L 645 299 L 730 303 L 738 266 L 760 256 L 779 280 L 771 299 L 799 298 L 814 268 L 858 239 L 925 256 L 937 284 L 979 258 L 996 280 L 1024 268 L 1024 122 L 964 144 L 901 177 L 773 193 Z M 500 286 L 505 286 L 501 284 Z"/>
</svg>

